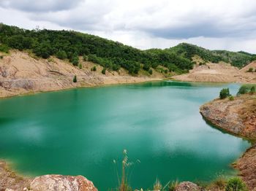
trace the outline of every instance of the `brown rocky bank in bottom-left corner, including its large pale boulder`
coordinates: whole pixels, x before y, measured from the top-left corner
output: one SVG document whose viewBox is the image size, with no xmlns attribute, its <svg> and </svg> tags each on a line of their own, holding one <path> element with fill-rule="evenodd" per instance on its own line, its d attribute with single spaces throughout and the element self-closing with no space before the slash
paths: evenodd
<svg viewBox="0 0 256 191">
<path fill-rule="evenodd" d="M 0 160 L 0 191 L 97 191 L 83 176 L 44 175 L 34 179 L 15 174 L 4 160 Z"/>
</svg>

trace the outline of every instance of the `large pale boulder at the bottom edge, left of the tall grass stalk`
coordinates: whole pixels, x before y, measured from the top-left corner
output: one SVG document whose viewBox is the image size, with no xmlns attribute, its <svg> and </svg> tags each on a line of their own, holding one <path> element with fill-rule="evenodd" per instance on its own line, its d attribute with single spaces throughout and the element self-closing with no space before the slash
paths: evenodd
<svg viewBox="0 0 256 191">
<path fill-rule="evenodd" d="M 97 191 L 94 184 L 83 176 L 37 176 L 30 184 L 33 191 Z"/>
</svg>

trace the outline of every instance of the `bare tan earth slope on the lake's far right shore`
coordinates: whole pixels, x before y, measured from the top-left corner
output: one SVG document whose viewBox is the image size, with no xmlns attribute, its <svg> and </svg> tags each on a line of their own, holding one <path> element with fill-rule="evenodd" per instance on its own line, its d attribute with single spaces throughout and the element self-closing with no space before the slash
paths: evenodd
<svg viewBox="0 0 256 191">
<path fill-rule="evenodd" d="M 197 65 L 188 74 L 174 76 L 174 79 L 187 82 L 241 82 L 256 83 L 256 72 L 248 72 L 249 68 L 256 69 L 256 62 L 249 63 L 243 69 L 238 69 L 227 63 L 206 63 Z"/>
</svg>

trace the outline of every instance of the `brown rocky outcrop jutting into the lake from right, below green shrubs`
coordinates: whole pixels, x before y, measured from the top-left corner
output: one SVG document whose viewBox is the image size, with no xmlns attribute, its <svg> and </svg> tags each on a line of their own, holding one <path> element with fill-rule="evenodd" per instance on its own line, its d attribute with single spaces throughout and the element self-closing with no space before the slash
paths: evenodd
<svg viewBox="0 0 256 191">
<path fill-rule="evenodd" d="M 217 99 L 201 106 L 200 113 L 218 128 L 256 139 L 256 95 L 241 95 L 234 101 Z"/>
</svg>

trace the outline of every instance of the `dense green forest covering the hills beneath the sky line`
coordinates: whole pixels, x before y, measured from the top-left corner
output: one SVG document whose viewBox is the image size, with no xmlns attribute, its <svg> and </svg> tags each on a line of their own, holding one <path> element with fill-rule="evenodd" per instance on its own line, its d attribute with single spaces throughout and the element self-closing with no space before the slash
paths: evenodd
<svg viewBox="0 0 256 191">
<path fill-rule="evenodd" d="M 123 67 L 130 74 L 138 74 L 140 69 L 151 73 L 151 67 L 157 68 L 159 65 L 176 73 L 186 72 L 192 69 L 194 55 L 199 55 L 205 62 L 225 61 L 238 67 L 255 58 L 255 55 L 247 52 L 211 51 L 186 43 L 165 50 L 138 50 L 120 42 L 76 31 L 26 30 L 2 23 L 0 43 L 1 52 L 18 49 L 31 51 L 42 58 L 55 55 L 60 59 L 68 59 L 75 66 L 79 63 L 78 56 L 83 56 L 85 60 L 99 63 L 106 69 L 118 71 Z"/>
</svg>

